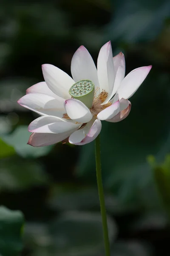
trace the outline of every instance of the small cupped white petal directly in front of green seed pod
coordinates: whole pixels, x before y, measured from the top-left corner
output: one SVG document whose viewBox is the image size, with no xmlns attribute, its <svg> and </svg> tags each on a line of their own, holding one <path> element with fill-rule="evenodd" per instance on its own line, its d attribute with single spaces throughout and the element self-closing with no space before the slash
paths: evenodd
<svg viewBox="0 0 170 256">
<path fill-rule="evenodd" d="M 86 123 L 93 117 L 85 104 L 77 99 L 66 100 L 64 107 L 68 116 L 76 122 Z"/>
</svg>

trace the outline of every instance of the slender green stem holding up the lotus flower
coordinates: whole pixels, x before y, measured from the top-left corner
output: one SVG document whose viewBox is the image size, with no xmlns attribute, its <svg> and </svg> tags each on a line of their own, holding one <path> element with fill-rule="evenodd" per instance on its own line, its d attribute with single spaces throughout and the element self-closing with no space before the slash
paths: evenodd
<svg viewBox="0 0 170 256">
<path fill-rule="evenodd" d="M 102 184 L 102 172 L 101 172 L 101 159 L 100 159 L 100 137 L 95 140 L 95 155 L 96 155 L 96 176 L 97 176 L 97 186 L 99 192 L 99 201 L 100 201 L 100 210 L 102 215 L 102 225 L 103 225 L 103 236 L 105 243 L 105 255 L 110 256 L 110 245 L 109 245 L 109 237 L 108 237 L 108 224 L 107 224 L 107 215 L 105 208 L 105 197 L 103 192 L 103 184 Z"/>
</svg>

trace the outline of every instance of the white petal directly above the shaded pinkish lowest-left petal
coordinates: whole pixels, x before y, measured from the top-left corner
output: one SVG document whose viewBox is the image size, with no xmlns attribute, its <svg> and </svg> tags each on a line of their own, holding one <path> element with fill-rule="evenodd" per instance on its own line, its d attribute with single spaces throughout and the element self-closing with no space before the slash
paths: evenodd
<svg viewBox="0 0 170 256">
<path fill-rule="evenodd" d="M 28 131 L 36 133 L 63 133 L 78 129 L 81 124 L 66 121 L 56 116 L 40 116 L 28 126 Z"/>
</svg>

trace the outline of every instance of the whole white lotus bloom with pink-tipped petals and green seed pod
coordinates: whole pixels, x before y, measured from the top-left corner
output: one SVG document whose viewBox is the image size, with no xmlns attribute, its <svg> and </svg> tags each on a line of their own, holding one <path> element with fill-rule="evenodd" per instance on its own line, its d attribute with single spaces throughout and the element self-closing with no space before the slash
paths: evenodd
<svg viewBox="0 0 170 256">
<path fill-rule="evenodd" d="M 73 79 L 51 64 L 42 65 L 45 82 L 28 88 L 18 101 L 41 115 L 28 127 L 32 132 L 28 144 L 40 147 L 68 137 L 71 144 L 90 143 L 101 131 L 101 120 L 119 122 L 129 114 L 128 99 L 151 67 L 136 68 L 125 77 L 124 55 L 120 52 L 113 57 L 111 42 L 100 49 L 97 69 L 88 50 L 79 47 L 71 61 Z M 86 92 L 88 87 L 90 93 Z"/>
</svg>

